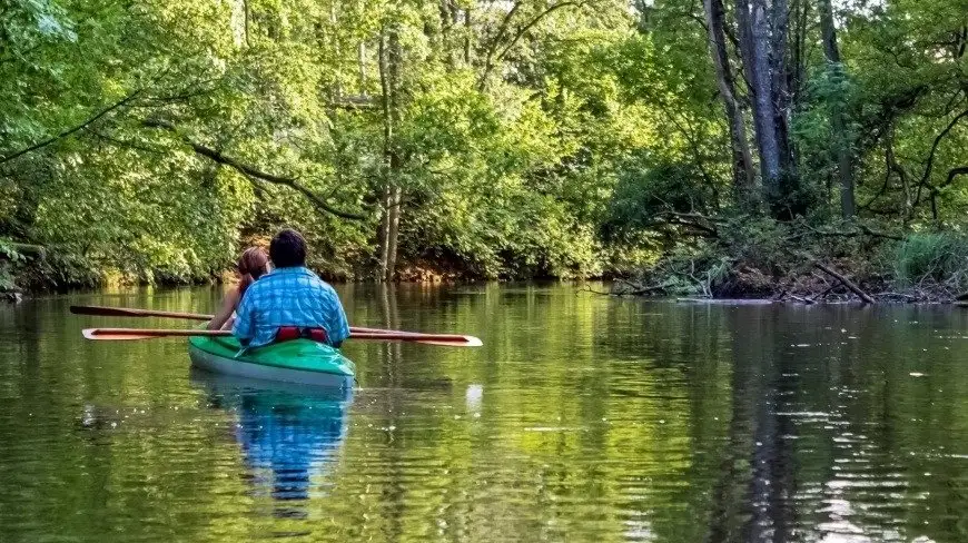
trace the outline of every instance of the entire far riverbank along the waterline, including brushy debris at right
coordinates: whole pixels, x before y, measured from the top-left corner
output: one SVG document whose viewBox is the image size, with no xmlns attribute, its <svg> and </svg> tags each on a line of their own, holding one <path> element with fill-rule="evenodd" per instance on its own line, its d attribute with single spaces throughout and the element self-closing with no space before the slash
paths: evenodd
<svg viewBox="0 0 968 543">
<path fill-rule="evenodd" d="M 612 282 L 608 292 L 599 294 L 615 296 L 799 304 L 944 304 L 968 298 L 968 237 L 950 230 L 902 235 L 862 224 L 817 227 L 803 220 L 781 223 L 753 217 L 710 224 L 714 228 L 691 240 L 676 231 L 673 238 L 678 240 L 669 246 L 641 248 L 661 255 L 648 266 L 616 265 L 618 258 L 604 256 L 608 248 L 595 258 L 613 264 L 603 264 L 604 272 L 584 277 L 492 276 L 458 259 L 421 258 L 401 264 L 396 282 L 597 279 Z M 375 277 L 362 264 L 339 268 L 328 264 L 312 261 L 310 268 L 332 283 L 368 282 Z M 40 247 L 30 251 L 0 250 L 0 294 L 7 293 L 11 299 L 20 294 L 109 285 L 187 286 L 234 279 L 229 261 L 185 266 L 177 272 L 145 266 L 122 272 Z"/>
</svg>

